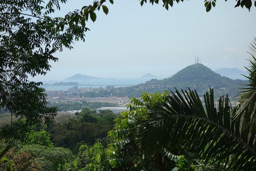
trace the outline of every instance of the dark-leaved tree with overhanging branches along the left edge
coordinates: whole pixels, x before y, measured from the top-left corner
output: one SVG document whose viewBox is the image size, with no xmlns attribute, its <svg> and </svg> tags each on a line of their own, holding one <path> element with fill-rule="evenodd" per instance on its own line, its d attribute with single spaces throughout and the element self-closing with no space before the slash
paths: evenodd
<svg viewBox="0 0 256 171">
<path fill-rule="evenodd" d="M 74 41 L 85 41 L 88 17 L 96 20 L 95 10 L 108 8 L 105 1 L 94 1 L 81 11 L 69 12 L 63 17 L 51 17 L 66 0 L 0 2 L 0 110 L 9 111 L 12 117 L 26 122 L 22 127 L 12 127 L 12 117 L 0 130 L 0 138 L 11 143 L 26 142 L 26 132 L 31 125 L 49 126 L 54 122 L 56 107 L 47 107 L 42 82 L 28 81 L 28 75 L 45 75 L 50 71 L 49 61 L 58 61 L 56 51 L 72 49 Z"/>
</svg>

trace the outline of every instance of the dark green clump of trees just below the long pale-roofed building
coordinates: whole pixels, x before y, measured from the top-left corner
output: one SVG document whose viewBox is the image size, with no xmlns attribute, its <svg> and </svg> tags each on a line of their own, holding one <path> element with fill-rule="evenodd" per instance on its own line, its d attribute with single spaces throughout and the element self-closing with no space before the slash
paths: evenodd
<svg viewBox="0 0 256 171">
<path fill-rule="evenodd" d="M 104 147 L 110 142 L 108 131 L 114 127 L 114 119 L 119 115 L 110 110 L 102 110 L 97 114 L 95 110 L 84 108 L 77 114 L 66 114 L 65 122 L 57 117 L 55 124 L 46 129 L 51 134 L 51 141 L 55 147 L 64 147 L 77 153 L 81 144 L 92 146 L 100 142 Z M 83 142 L 83 143 L 82 143 Z"/>
</svg>

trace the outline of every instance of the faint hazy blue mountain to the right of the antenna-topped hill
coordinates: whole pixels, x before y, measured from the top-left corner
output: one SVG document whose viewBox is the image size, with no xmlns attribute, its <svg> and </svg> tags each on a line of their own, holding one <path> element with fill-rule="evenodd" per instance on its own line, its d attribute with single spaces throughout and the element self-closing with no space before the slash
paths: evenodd
<svg viewBox="0 0 256 171">
<path fill-rule="evenodd" d="M 217 74 L 220 74 L 221 76 L 229 77 L 233 80 L 240 79 L 240 80 L 248 80 L 246 77 L 242 76 L 241 74 L 248 76 L 248 72 L 239 70 L 237 68 L 220 68 L 217 70 L 214 70 Z"/>
</svg>

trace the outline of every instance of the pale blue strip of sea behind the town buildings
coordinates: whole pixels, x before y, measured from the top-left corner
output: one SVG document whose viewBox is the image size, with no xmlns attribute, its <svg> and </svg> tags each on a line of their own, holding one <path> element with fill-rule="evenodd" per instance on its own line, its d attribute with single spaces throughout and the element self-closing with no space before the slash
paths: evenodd
<svg viewBox="0 0 256 171">
<path fill-rule="evenodd" d="M 75 85 L 52 85 L 54 83 L 59 82 L 77 82 L 79 85 L 78 88 L 81 87 L 92 87 L 92 88 L 99 88 L 103 87 L 106 88 L 108 85 L 114 85 L 114 87 L 126 87 L 126 86 L 132 86 L 132 85 L 138 85 L 141 83 L 145 83 L 149 81 L 150 79 L 106 79 L 106 80 L 89 80 L 89 81 L 43 81 L 43 85 L 40 87 L 46 89 L 46 90 L 68 90 L 69 88 L 72 88 Z M 45 85 L 50 84 L 50 85 Z"/>
</svg>

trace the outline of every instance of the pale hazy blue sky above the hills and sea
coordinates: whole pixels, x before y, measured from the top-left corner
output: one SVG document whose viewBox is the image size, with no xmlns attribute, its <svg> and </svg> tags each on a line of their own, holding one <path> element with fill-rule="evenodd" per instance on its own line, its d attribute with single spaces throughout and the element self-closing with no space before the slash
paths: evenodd
<svg viewBox="0 0 256 171">
<path fill-rule="evenodd" d="M 59 16 L 81 9 L 93 0 L 68 0 Z M 235 0 L 217 1 L 205 11 L 203 0 L 174 3 L 167 11 L 159 5 L 138 0 L 106 2 L 109 14 L 97 11 L 97 19 L 86 23 L 85 42 L 56 53 L 46 76 L 32 81 L 64 80 L 80 73 L 94 77 L 140 78 L 146 73 L 165 77 L 195 63 L 216 70 L 246 71 L 248 45 L 255 34 L 256 8 L 234 8 Z"/>
</svg>

